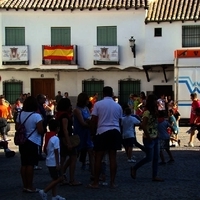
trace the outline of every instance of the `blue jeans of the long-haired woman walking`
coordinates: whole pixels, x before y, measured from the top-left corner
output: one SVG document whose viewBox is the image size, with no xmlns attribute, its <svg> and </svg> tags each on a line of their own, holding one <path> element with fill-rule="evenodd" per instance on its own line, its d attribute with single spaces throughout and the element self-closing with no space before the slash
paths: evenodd
<svg viewBox="0 0 200 200">
<path fill-rule="evenodd" d="M 134 166 L 134 169 L 137 170 L 144 164 L 152 161 L 152 178 L 157 176 L 158 172 L 158 159 L 159 159 L 159 151 L 160 151 L 160 145 L 158 138 L 147 140 L 146 138 L 143 138 L 143 143 L 145 147 L 145 153 L 146 157 L 140 160 L 136 165 Z"/>
</svg>

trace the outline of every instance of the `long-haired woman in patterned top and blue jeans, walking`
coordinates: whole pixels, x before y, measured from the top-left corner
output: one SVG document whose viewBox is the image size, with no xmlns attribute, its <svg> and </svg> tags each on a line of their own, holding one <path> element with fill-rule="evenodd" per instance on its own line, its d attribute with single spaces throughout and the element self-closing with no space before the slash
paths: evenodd
<svg viewBox="0 0 200 200">
<path fill-rule="evenodd" d="M 149 95 L 146 101 L 145 111 L 142 118 L 143 143 L 146 148 L 146 157 L 131 167 L 131 177 L 136 178 L 136 171 L 144 164 L 152 163 L 152 181 L 163 181 L 157 177 L 158 159 L 159 159 L 159 142 L 157 131 L 157 105 L 154 95 Z"/>
</svg>

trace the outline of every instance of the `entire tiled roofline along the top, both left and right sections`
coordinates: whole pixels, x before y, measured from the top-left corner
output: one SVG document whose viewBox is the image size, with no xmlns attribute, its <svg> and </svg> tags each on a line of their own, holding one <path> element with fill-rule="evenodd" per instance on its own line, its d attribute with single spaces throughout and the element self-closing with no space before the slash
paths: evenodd
<svg viewBox="0 0 200 200">
<path fill-rule="evenodd" d="M 200 20 L 200 0 L 0 0 L 0 9 L 93 10 L 148 8 L 145 23 Z"/>
</svg>

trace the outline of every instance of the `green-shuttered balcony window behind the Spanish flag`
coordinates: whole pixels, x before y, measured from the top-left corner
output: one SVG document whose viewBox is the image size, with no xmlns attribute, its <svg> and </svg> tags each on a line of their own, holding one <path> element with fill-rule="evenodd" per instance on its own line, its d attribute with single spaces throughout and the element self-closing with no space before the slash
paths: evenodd
<svg viewBox="0 0 200 200">
<path fill-rule="evenodd" d="M 51 27 L 51 45 L 71 45 L 70 27 Z M 68 60 L 51 60 L 51 64 L 71 64 Z"/>
</svg>

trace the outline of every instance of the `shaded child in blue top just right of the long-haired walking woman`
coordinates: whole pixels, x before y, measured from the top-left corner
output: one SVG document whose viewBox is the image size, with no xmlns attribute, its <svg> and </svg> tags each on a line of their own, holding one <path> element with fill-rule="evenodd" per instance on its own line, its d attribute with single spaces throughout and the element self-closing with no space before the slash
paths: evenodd
<svg viewBox="0 0 200 200">
<path fill-rule="evenodd" d="M 165 111 L 159 111 L 158 133 L 159 133 L 159 140 L 160 140 L 160 159 L 161 159 L 161 162 L 159 163 L 160 165 L 166 164 L 165 157 L 163 154 L 164 150 L 167 152 L 170 158 L 168 163 L 174 162 L 174 158 L 172 156 L 172 153 L 170 151 L 170 146 L 169 146 L 170 135 L 167 132 L 167 128 L 170 126 L 170 124 L 167 120 L 164 119 L 164 117 L 165 117 Z"/>
</svg>

